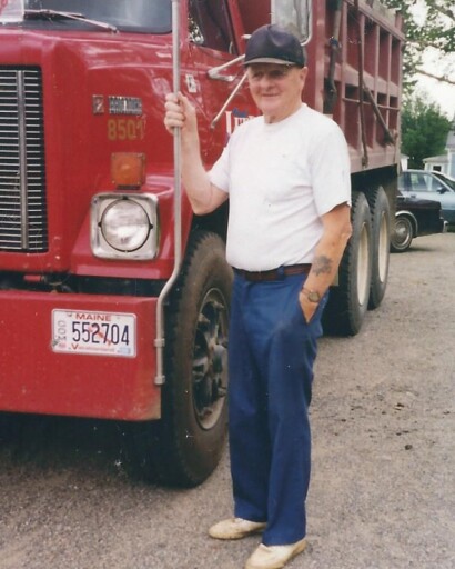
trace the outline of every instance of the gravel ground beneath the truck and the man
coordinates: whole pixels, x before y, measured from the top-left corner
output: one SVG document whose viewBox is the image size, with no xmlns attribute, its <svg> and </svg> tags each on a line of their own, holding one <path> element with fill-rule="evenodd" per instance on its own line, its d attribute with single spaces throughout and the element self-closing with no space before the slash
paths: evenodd
<svg viewBox="0 0 455 569">
<path fill-rule="evenodd" d="M 312 406 L 309 548 L 291 569 L 455 567 L 455 233 L 391 259 L 355 338 L 323 338 Z M 193 490 L 132 481 L 111 423 L 0 423 L 1 569 L 241 569 L 226 453 Z"/>
</svg>

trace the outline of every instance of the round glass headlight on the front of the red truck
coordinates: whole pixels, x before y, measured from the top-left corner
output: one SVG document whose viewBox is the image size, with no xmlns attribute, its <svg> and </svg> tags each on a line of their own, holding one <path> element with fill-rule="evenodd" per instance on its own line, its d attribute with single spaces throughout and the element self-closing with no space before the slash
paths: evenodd
<svg viewBox="0 0 455 569">
<path fill-rule="evenodd" d="M 146 241 L 150 219 L 144 208 L 134 200 L 123 199 L 105 208 L 100 220 L 105 241 L 118 251 L 135 251 Z"/>
</svg>

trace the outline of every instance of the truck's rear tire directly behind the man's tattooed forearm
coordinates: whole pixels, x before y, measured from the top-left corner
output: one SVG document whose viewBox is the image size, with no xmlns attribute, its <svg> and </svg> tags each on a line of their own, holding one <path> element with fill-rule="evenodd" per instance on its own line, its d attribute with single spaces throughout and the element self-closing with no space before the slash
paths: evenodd
<svg viewBox="0 0 455 569">
<path fill-rule="evenodd" d="M 353 192 L 352 236 L 338 269 L 338 286 L 332 287 L 323 315 L 324 332 L 355 336 L 362 328 L 372 280 L 372 222 L 363 193 Z"/>
</svg>

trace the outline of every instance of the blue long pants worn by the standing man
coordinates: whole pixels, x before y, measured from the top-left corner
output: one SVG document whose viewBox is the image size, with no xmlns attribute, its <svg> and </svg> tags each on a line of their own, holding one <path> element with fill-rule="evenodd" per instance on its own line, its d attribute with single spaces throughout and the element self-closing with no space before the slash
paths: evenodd
<svg viewBox="0 0 455 569">
<path fill-rule="evenodd" d="M 229 343 L 230 451 L 236 517 L 266 521 L 264 545 L 306 532 L 316 340 L 326 298 L 307 325 L 305 276 L 250 282 L 235 276 Z"/>
</svg>

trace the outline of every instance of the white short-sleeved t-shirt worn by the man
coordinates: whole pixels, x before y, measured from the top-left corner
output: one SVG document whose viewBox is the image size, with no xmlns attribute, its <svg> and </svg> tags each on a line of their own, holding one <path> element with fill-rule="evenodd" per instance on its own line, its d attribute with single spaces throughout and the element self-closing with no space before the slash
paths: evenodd
<svg viewBox="0 0 455 569">
<path fill-rule="evenodd" d="M 312 262 L 321 216 L 351 203 L 344 136 L 306 104 L 281 122 L 241 124 L 210 180 L 229 192 L 228 262 L 249 271 Z"/>
</svg>

